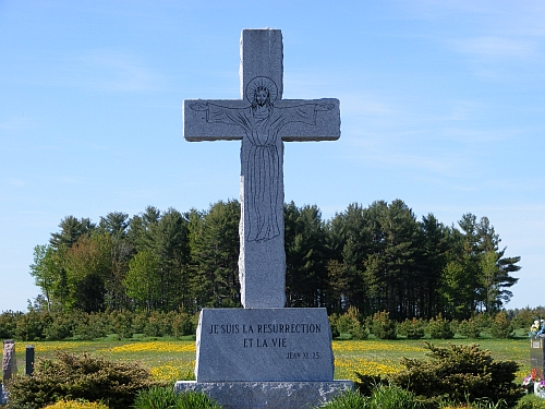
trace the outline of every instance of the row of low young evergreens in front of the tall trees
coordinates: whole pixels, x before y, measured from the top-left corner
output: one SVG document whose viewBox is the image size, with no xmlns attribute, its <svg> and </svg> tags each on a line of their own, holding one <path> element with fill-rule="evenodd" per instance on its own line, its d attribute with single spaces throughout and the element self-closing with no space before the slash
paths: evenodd
<svg viewBox="0 0 545 409">
<path fill-rule="evenodd" d="M 529 315 L 528 317 L 525 315 Z M 355 308 L 342 315 L 329 316 L 334 338 L 349 335 L 353 339 L 366 339 L 373 334 L 379 339 L 409 339 L 428 337 L 451 339 L 455 334 L 479 338 L 484 333 L 495 338 L 508 338 L 514 329 L 530 328 L 530 314 L 509 320 L 506 312 L 495 315 L 476 314 L 469 320 L 448 321 L 438 314 L 429 321 L 423 318 L 395 322 L 385 311 L 364 318 Z M 31 310 L 27 313 L 3 312 L 0 314 L 0 339 L 33 340 L 89 340 L 116 334 L 118 338 L 131 338 L 134 334 L 149 337 L 181 337 L 195 334 L 198 316 L 178 312 L 109 311 L 99 313 L 50 313 Z M 529 321 L 530 323 L 528 323 Z"/>
</svg>

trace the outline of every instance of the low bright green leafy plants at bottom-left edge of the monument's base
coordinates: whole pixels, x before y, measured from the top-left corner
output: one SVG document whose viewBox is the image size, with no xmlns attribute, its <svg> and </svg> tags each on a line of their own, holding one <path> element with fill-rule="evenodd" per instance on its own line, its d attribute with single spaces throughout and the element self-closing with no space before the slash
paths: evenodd
<svg viewBox="0 0 545 409">
<path fill-rule="evenodd" d="M 134 409 L 220 409 L 220 406 L 199 392 L 177 393 L 171 386 L 154 386 L 138 392 Z"/>
</svg>

